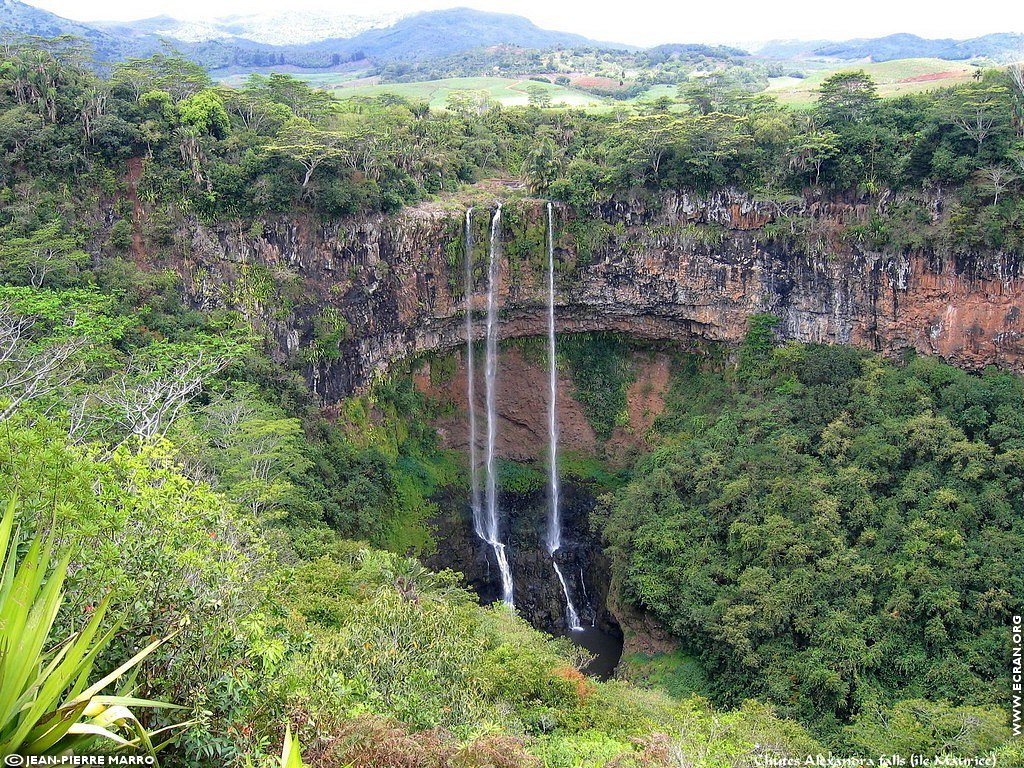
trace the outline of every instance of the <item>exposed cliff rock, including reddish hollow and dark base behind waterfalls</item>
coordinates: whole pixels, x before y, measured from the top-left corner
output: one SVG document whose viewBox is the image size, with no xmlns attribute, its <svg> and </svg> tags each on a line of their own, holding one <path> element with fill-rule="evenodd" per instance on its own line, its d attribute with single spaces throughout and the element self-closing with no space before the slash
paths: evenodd
<svg viewBox="0 0 1024 768">
<path fill-rule="evenodd" d="M 557 211 L 557 327 L 560 334 L 616 331 L 698 345 L 734 344 L 749 318 L 770 312 L 783 339 L 852 344 L 894 355 L 906 348 L 965 368 L 995 364 L 1024 370 L 1021 258 L 1012 254 L 874 251 L 848 237 L 900 200 L 756 201 L 721 190 L 697 196 L 614 201 L 578 217 Z M 501 335 L 543 336 L 547 325 L 546 210 L 542 201 L 505 203 L 499 300 Z M 943 201 L 927 210 L 942 217 Z M 243 311 L 261 325 L 283 358 L 301 360 L 325 402 L 358 391 L 392 362 L 431 350 L 464 347 L 467 303 L 482 321 L 490 210 L 476 212 L 475 247 L 466 254 L 465 209 L 423 205 L 393 216 L 344 222 L 308 219 L 243 227 L 189 226 L 175 254 L 189 299 Z M 136 249 L 138 251 L 140 249 Z M 464 291 L 465 259 L 474 290 Z M 483 323 L 475 326 L 482 338 Z M 502 351 L 499 454 L 542 460 L 547 447 L 544 362 L 514 347 Z M 421 369 L 422 371 L 423 369 Z M 651 352 L 634 369 L 628 424 L 599 441 L 572 382 L 559 384 L 563 450 L 600 453 L 626 463 L 664 408 L 670 365 Z M 465 372 L 443 381 L 421 373 L 428 394 L 455 403 L 437 426 L 443 443 L 467 444 Z M 482 398 L 482 386 L 476 392 Z M 563 396 L 564 395 L 564 396 Z M 478 402 L 482 411 L 482 401 Z M 565 483 L 562 569 L 588 590 L 597 625 L 620 632 L 630 650 L 669 647 L 642 614 L 615 602 L 609 569 L 588 518 L 593 494 Z M 474 537 L 464 489 L 438 499 L 438 552 L 431 564 L 456 567 L 484 599 L 497 597 L 495 563 Z M 542 490 L 502 494 L 516 603 L 539 627 L 564 628 L 563 597 L 542 536 Z M 579 575 L 578 575 L 579 574 Z M 610 602 L 609 602 L 610 600 Z M 613 615 L 614 614 L 614 615 Z"/>
</svg>

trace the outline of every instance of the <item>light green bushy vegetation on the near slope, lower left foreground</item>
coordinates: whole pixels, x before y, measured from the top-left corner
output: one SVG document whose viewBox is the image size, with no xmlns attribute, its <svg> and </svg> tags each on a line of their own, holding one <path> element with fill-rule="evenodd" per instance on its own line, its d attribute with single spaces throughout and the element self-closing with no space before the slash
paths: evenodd
<svg viewBox="0 0 1024 768">
<path fill-rule="evenodd" d="M 457 574 L 261 527 L 186 476 L 182 458 L 168 440 L 71 445 L 65 425 L 31 411 L 7 422 L 0 457 L 3 492 L 55 517 L 74 568 L 51 636 L 112 589 L 121 629 L 111 625 L 99 672 L 148 645 L 136 695 L 176 701 L 195 721 L 165 765 L 269 764 L 289 722 L 306 760 L 367 768 L 663 765 L 673 751 L 715 765 L 756 743 L 818 749 L 753 701 L 717 714 L 698 698 L 588 680 L 565 641 L 481 608 Z M 138 717 L 166 725 L 159 712 Z"/>
</svg>

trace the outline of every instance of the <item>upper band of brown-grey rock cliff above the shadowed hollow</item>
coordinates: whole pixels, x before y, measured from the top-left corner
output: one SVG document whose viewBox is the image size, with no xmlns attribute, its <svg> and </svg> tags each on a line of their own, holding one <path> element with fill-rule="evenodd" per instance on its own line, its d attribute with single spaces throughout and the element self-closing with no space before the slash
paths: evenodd
<svg viewBox="0 0 1024 768">
<path fill-rule="evenodd" d="M 874 252 L 841 237 L 896 203 L 783 207 L 723 190 L 610 203 L 589 219 L 556 208 L 558 330 L 735 343 L 751 314 L 772 312 L 785 339 L 1024 370 L 1022 257 Z M 930 207 L 942 215 L 940 198 Z M 544 204 L 505 211 L 502 336 L 542 335 Z M 795 215 L 813 247 L 787 229 Z M 489 216 L 478 210 L 472 223 L 478 317 Z M 463 226 L 463 210 L 423 205 L 343 223 L 266 222 L 262 231 L 195 227 L 176 266 L 197 304 L 241 308 L 265 325 L 279 354 L 304 355 L 310 385 L 331 401 L 399 358 L 465 342 Z M 477 322 L 474 336 L 482 334 Z"/>
</svg>

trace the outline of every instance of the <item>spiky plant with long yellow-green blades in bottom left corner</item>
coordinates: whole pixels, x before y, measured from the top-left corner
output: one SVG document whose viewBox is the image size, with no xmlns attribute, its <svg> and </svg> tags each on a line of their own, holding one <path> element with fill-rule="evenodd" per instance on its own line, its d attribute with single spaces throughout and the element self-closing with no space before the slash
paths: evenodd
<svg viewBox="0 0 1024 768">
<path fill-rule="evenodd" d="M 11 499 L 0 519 L 0 755 L 61 755 L 100 741 L 155 754 L 163 744 L 155 745 L 154 736 L 178 726 L 150 732 L 129 708 L 180 708 L 134 698 L 125 690 L 121 695 L 101 692 L 164 641 L 151 643 L 89 685 L 96 657 L 119 629 L 114 623 L 100 633 L 108 596 L 80 632 L 47 649 L 70 556 L 60 556 L 50 569 L 55 554 L 50 532 L 33 537 L 19 562 L 15 508 Z"/>
</svg>

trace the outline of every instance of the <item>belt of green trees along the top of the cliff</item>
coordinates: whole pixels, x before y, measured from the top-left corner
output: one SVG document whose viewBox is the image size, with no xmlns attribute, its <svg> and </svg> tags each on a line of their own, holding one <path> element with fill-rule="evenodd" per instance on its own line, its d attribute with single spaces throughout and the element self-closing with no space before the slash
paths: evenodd
<svg viewBox="0 0 1024 768">
<path fill-rule="evenodd" d="M 892 99 L 880 99 L 864 73 L 841 72 L 822 84 L 814 109 L 796 112 L 718 69 L 687 79 L 681 104 L 670 98 L 609 115 L 542 109 L 540 92 L 519 110 L 468 91 L 453 93 L 442 111 L 393 95 L 337 100 L 280 74 L 221 88 L 169 54 L 129 59 L 106 79 L 86 63 L 63 40 L 4 54 L 7 187 L 26 174 L 94 174 L 109 183 L 125 159 L 140 158 L 144 202 L 207 219 L 297 207 L 328 217 L 391 211 L 495 174 L 582 208 L 663 187 L 734 185 L 775 199 L 808 187 L 954 187 L 950 233 L 963 247 L 1020 245 L 1022 213 L 1009 193 L 1024 162 L 1024 90 L 997 70 Z M 42 280 L 47 264 L 54 279 L 74 269 L 80 233 L 68 224 L 45 207 L 3 224 L 33 267 L 18 280 Z M 45 253 L 33 246 L 43 227 L 63 237 Z M 879 226 L 873 234 L 886 242 L 888 232 Z"/>
</svg>

